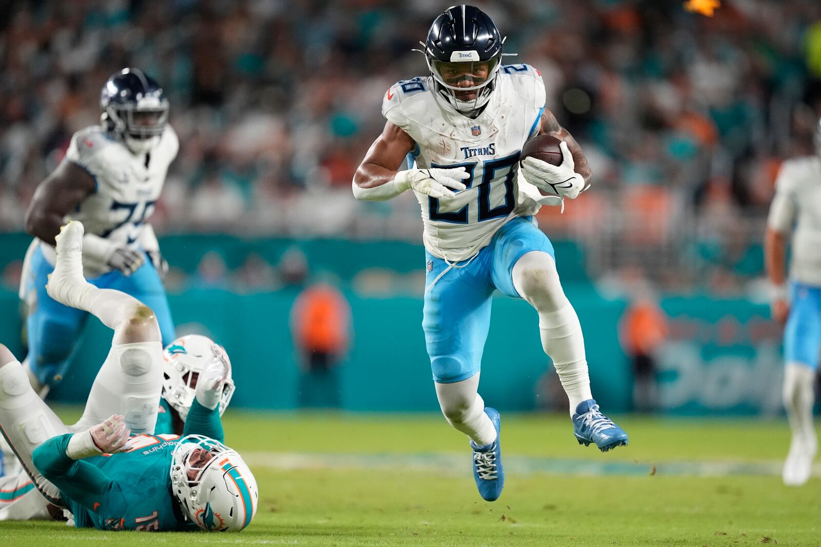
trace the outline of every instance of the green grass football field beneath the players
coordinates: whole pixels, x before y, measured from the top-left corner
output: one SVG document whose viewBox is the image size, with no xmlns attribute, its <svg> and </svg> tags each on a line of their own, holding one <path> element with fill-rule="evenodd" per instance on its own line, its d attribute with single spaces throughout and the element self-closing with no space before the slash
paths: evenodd
<svg viewBox="0 0 821 547">
<path fill-rule="evenodd" d="M 68 415 L 74 409 L 64 411 Z M 2 522 L 3 545 L 821 545 L 821 481 L 782 485 L 783 421 L 617 417 L 631 444 L 576 444 L 569 418 L 502 415 L 507 481 L 479 498 L 470 450 L 437 415 L 229 411 L 259 481 L 238 535 Z M 818 470 L 816 470 L 817 474 Z"/>
</svg>

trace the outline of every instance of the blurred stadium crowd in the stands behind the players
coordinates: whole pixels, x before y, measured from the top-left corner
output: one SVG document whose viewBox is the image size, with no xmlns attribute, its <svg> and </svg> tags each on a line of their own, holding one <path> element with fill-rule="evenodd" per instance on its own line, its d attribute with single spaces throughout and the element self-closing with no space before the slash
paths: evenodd
<svg viewBox="0 0 821 547">
<path fill-rule="evenodd" d="M 508 62 L 544 76 L 594 189 L 543 211 L 605 278 L 733 292 L 761 273 L 779 162 L 811 153 L 821 104 L 821 2 L 476 2 Z M 0 36 L 0 230 L 18 231 L 72 132 L 99 119 L 123 66 L 163 84 L 181 152 L 159 232 L 419 240 L 414 198 L 359 203 L 351 176 L 381 130 L 383 94 L 424 75 L 412 48 L 442 2 L 7 2 Z M 512 59 L 512 60 L 511 60 Z"/>
</svg>

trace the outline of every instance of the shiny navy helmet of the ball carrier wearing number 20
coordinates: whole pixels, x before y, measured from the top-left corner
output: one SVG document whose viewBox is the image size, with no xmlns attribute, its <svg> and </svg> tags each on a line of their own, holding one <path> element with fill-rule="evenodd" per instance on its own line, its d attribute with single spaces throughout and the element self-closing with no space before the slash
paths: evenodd
<svg viewBox="0 0 821 547">
<path fill-rule="evenodd" d="M 460 112 L 484 106 L 502 66 L 503 43 L 496 25 L 478 7 L 448 7 L 422 44 L 438 93 Z"/>
</svg>

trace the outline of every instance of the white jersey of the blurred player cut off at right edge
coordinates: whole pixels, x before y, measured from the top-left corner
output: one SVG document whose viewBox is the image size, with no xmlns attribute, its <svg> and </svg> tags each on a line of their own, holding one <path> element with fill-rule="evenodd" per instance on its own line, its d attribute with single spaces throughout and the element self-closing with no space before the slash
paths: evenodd
<svg viewBox="0 0 821 547">
<path fill-rule="evenodd" d="M 778 171 L 767 225 L 792 231 L 792 280 L 821 287 L 821 159 L 787 160 Z"/>
</svg>

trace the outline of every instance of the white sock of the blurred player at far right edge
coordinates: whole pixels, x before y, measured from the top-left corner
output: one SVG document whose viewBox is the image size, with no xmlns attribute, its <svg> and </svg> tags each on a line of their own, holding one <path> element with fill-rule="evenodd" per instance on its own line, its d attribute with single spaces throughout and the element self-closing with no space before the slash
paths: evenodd
<svg viewBox="0 0 821 547">
<path fill-rule="evenodd" d="M 813 426 L 815 371 L 799 362 L 784 367 L 784 408 L 790 421 L 793 439 L 815 454 L 817 440 Z"/>
</svg>

